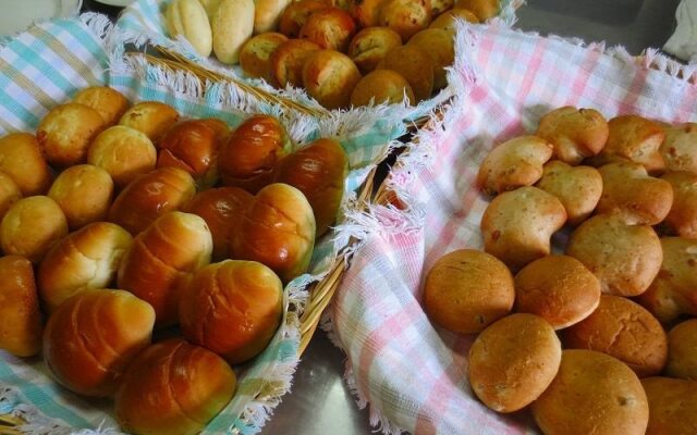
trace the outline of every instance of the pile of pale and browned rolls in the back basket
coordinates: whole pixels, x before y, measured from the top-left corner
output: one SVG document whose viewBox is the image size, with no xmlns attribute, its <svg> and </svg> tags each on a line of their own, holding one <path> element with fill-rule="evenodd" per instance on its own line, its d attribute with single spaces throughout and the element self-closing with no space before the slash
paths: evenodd
<svg viewBox="0 0 697 435">
<path fill-rule="evenodd" d="M 448 84 L 454 20 L 484 22 L 499 1 L 173 0 L 166 17 L 199 54 L 340 109 L 430 98 Z"/>
</svg>

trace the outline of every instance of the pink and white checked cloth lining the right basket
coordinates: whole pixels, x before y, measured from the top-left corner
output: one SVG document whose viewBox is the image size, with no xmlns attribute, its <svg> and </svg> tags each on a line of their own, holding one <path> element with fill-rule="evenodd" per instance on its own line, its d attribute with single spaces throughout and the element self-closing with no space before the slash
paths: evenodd
<svg viewBox="0 0 697 435">
<path fill-rule="evenodd" d="M 540 116 L 572 104 L 608 119 L 637 113 L 665 122 L 697 120 L 695 66 L 646 50 L 462 23 L 451 80 L 458 98 L 442 123 L 418 135 L 389 184 L 407 206 L 354 215 L 364 237 L 328 311 L 327 327 L 347 360 L 359 406 L 383 433 L 536 433 L 523 410 L 490 411 L 467 382 L 472 335 L 435 327 L 421 308 L 425 273 L 442 254 L 482 247 L 488 204 L 474 186 L 496 145 L 533 133 Z"/>
</svg>

